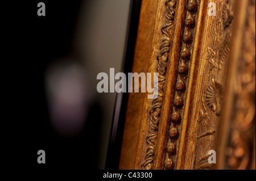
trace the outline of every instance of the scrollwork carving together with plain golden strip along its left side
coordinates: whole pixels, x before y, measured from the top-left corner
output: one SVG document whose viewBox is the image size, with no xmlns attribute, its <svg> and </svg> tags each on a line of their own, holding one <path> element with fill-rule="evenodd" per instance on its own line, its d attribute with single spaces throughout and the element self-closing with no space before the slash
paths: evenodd
<svg viewBox="0 0 256 181">
<path fill-rule="evenodd" d="M 148 66 L 149 73 L 159 73 L 159 95 L 158 99 L 147 99 L 144 97 L 143 113 L 141 120 L 141 129 L 139 136 L 139 144 L 136 154 L 135 169 L 152 169 L 152 160 L 154 159 L 155 140 L 158 134 L 159 113 L 162 107 L 163 86 L 165 83 L 166 62 L 169 49 L 171 47 L 170 31 L 172 29 L 172 20 L 169 22 L 168 2 L 158 1 L 158 9 L 156 11 L 154 36 L 151 45 L 150 65 Z M 164 9 L 160 8 L 164 7 Z M 171 24 L 170 24 L 171 23 Z M 155 127 L 155 130 L 154 130 Z M 155 134 L 155 135 L 154 135 Z M 152 140 L 152 141 L 151 141 Z"/>
</svg>

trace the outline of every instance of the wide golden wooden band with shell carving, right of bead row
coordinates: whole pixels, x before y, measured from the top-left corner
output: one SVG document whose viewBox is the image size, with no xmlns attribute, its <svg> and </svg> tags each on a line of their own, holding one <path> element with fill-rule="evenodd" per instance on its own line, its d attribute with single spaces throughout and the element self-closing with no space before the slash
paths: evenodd
<svg viewBox="0 0 256 181">
<path fill-rule="evenodd" d="M 226 77 L 226 58 L 229 53 L 235 1 L 216 1 L 216 16 L 207 15 L 207 6 L 202 6 L 205 19 L 203 41 L 195 47 L 194 71 L 189 77 L 191 84 L 185 106 L 183 125 L 183 150 L 179 169 L 212 169 L 208 163 L 208 151 L 216 150 L 218 123 Z M 199 30 L 199 32 L 201 32 Z M 200 49 L 200 50 L 199 50 Z M 222 50 L 225 49 L 225 55 Z M 212 52 L 214 50 L 214 52 Z M 221 58 L 224 61 L 221 61 Z M 209 61 L 210 59 L 210 61 Z M 212 66 L 212 62 L 218 67 Z M 193 91 L 192 91 L 193 90 Z M 203 146 L 202 146 L 203 145 Z M 185 151 L 187 150 L 187 151 Z"/>
</svg>

